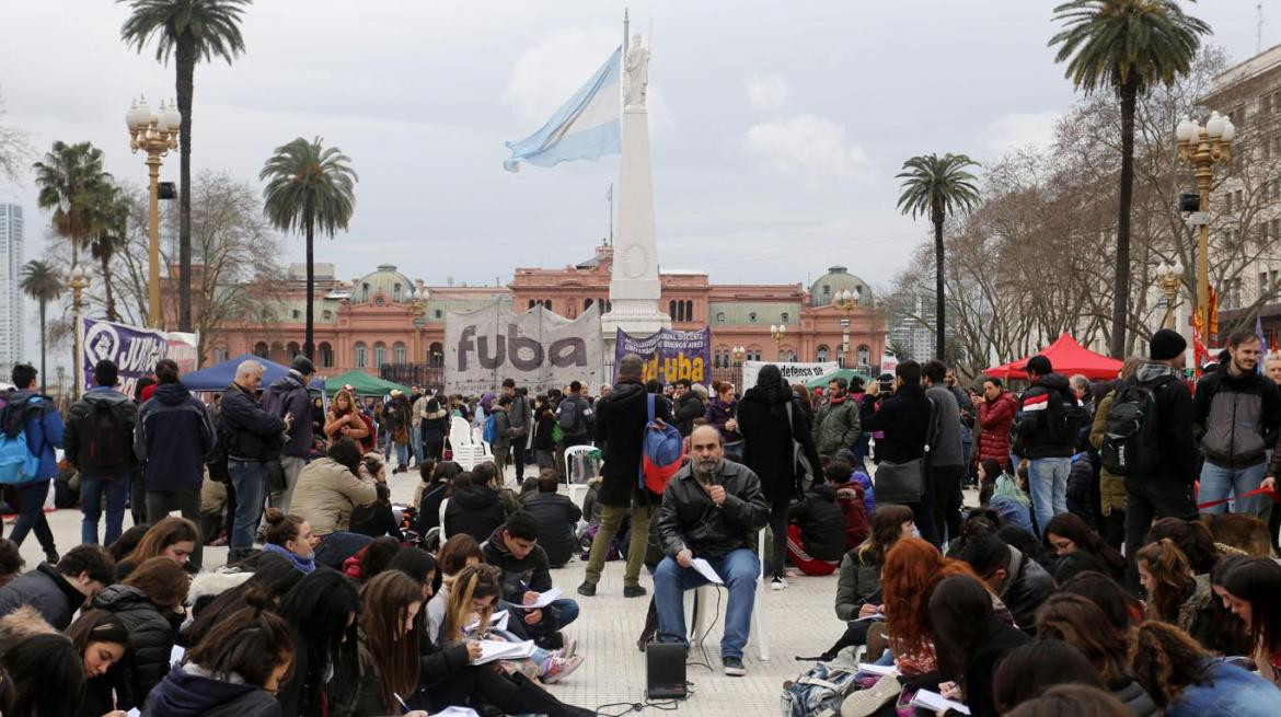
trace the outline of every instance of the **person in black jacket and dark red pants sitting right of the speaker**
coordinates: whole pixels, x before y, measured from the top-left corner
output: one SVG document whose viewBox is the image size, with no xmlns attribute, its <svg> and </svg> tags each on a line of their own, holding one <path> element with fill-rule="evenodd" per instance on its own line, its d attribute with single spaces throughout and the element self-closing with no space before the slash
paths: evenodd
<svg viewBox="0 0 1281 717">
<path fill-rule="evenodd" d="M 828 480 L 835 483 L 848 475 L 842 469 Z M 845 552 L 845 534 L 851 526 L 845 524 L 831 483 L 815 483 L 804 498 L 788 510 L 788 560 L 806 575 L 831 575 Z M 858 507 L 862 508 L 862 503 Z M 862 528 L 856 528 L 865 538 L 866 525 L 865 521 Z"/>
</svg>

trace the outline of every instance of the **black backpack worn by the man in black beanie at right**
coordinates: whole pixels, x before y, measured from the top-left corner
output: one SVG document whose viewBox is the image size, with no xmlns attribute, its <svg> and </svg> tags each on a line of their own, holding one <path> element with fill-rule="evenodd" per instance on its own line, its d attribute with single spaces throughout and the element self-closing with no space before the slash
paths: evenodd
<svg viewBox="0 0 1281 717">
<path fill-rule="evenodd" d="M 1148 475 L 1161 460 L 1157 387 L 1130 380 L 1117 388 L 1108 410 L 1099 457 L 1112 475 Z"/>
</svg>

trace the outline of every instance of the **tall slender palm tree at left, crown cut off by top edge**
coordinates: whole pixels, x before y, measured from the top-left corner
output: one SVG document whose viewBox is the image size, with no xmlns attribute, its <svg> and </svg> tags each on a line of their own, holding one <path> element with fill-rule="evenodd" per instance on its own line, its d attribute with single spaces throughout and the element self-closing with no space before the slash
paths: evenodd
<svg viewBox="0 0 1281 717">
<path fill-rule="evenodd" d="M 120 40 L 138 52 L 156 40 L 156 61 L 177 69 L 178 145 L 182 150 L 178 191 L 178 330 L 191 330 L 191 93 L 196 63 L 223 58 L 231 64 L 245 51 L 240 22 L 250 0 L 117 0 L 133 14 Z"/>
</svg>

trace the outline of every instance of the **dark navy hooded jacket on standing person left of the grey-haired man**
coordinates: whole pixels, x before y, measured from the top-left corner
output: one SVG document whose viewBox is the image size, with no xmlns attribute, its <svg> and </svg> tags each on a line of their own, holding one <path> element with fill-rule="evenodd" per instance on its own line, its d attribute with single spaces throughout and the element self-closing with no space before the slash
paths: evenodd
<svg viewBox="0 0 1281 717">
<path fill-rule="evenodd" d="M 160 384 L 138 410 L 133 429 L 135 452 L 147 462 L 146 489 L 199 489 L 215 438 L 214 420 L 202 401 L 181 383 Z"/>
</svg>

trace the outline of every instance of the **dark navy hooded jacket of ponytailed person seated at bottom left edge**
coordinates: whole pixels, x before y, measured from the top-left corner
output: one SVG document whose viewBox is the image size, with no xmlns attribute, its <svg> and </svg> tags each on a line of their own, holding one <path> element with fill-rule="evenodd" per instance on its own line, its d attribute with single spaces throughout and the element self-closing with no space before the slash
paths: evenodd
<svg viewBox="0 0 1281 717">
<path fill-rule="evenodd" d="M 199 665 L 174 666 L 151 690 L 145 717 L 279 717 L 281 703 L 243 677 L 218 680 Z"/>
</svg>

